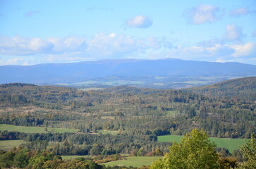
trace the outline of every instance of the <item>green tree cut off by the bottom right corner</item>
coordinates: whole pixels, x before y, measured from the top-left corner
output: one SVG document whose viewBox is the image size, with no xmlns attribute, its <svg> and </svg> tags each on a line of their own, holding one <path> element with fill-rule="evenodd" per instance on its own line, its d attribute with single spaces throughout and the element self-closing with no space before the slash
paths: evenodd
<svg viewBox="0 0 256 169">
<path fill-rule="evenodd" d="M 244 158 L 248 158 L 240 165 L 240 168 L 244 169 L 254 169 L 256 168 L 256 138 L 252 134 L 251 139 L 245 145 L 241 146 L 241 150 Z"/>
</svg>

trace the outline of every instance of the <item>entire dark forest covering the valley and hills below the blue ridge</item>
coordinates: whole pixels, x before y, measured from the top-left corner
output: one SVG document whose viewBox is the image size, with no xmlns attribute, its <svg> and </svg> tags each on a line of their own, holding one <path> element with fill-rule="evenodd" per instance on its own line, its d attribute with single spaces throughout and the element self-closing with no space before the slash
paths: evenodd
<svg viewBox="0 0 256 169">
<path fill-rule="evenodd" d="M 58 156 L 164 156 L 172 144 L 157 142 L 158 136 L 185 135 L 193 129 L 204 130 L 209 137 L 251 139 L 256 128 L 255 84 L 256 77 L 245 77 L 201 88 L 118 86 L 88 92 L 73 87 L 0 84 L 0 123 L 44 128 L 44 133 L 1 130 L 0 140 L 26 141 L 12 154 L 37 151 L 44 158 L 52 154 L 51 161 L 62 161 Z M 50 132 L 49 128 L 78 132 Z M 214 151 L 246 160 L 239 150 Z M 95 163 L 90 160 L 83 164 Z"/>
</svg>

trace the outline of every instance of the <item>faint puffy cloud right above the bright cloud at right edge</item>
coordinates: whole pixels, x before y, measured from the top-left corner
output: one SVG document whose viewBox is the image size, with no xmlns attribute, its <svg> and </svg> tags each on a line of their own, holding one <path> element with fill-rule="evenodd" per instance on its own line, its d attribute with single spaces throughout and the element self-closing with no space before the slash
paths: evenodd
<svg viewBox="0 0 256 169">
<path fill-rule="evenodd" d="M 236 25 L 227 25 L 226 33 L 224 34 L 224 39 L 227 41 L 239 41 L 245 35 L 243 35 L 242 28 Z"/>
</svg>

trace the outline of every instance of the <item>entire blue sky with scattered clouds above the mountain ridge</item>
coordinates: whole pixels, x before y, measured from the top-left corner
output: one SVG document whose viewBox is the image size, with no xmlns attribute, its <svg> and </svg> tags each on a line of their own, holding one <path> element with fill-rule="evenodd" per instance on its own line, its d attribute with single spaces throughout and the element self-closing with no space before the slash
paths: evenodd
<svg viewBox="0 0 256 169">
<path fill-rule="evenodd" d="M 0 0 L 0 65 L 119 58 L 256 65 L 256 1 Z"/>
</svg>

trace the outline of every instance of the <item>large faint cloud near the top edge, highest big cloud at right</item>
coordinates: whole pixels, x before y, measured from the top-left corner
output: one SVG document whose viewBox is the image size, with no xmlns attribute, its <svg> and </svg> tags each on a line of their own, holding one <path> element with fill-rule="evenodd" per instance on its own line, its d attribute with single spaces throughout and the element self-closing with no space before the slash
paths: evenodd
<svg viewBox="0 0 256 169">
<path fill-rule="evenodd" d="M 217 6 L 209 4 L 200 4 L 185 11 L 185 17 L 188 19 L 188 23 L 202 24 L 202 23 L 214 23 L 221 18 L 221 10 Z"/>
</svg>

